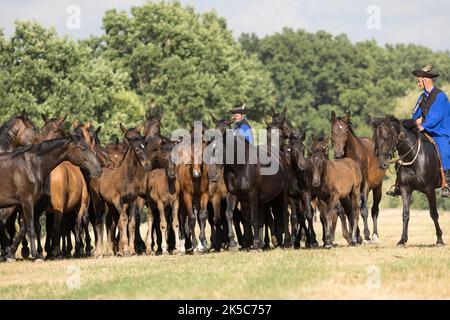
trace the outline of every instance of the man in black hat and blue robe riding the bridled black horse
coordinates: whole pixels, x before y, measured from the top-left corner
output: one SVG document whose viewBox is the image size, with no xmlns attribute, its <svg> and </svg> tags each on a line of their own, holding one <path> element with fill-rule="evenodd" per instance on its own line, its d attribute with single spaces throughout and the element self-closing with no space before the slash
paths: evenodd
<svg viewBox="0 0 450 320">
<path fill-rule="evenodd" d="M 429 64 L 412 72 L 417 77 L 419 89 L 423 90 L 412 118 L 419 131 L 426 132 L 436 143 L 446 182 L 446 186 L 441 189 L 441 196 L 450 197 L 450 104 L 445 93 L 434 86 L 433 79 L 439 77 L 439 74 L 432 73 L 432 68 Z M 388 191 L 387 194 L 399 196 L 398 184 L 395 184 L 394 191 Z"/>
</svg>

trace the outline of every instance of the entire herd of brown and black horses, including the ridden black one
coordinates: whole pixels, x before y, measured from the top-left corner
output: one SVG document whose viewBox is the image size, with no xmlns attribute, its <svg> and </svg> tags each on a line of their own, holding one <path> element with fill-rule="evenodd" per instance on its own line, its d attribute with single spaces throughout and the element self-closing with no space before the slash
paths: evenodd
<svg viewBox="0 0 450 320">
<path fill-rule="evenodd" d="M 352 129 L 350 114 L 338 117 L 333 111 L 331 143 L 326 137 L 312 137 L 306 146 L 305 134 L 290 123 L 286 109 L 280 113 L 271 109 L 271 113 L 266 145 L 253 145 L 240 136 L 225 139 L 232 122 L 214 116 L 214 129 L 224 139 L 202 139 L 198 145 L 192 131 L 173 141 L 161 134 L 162 115 L 147 114 L 135 128 L 121 125 L 122 141 L 116 138 L 102 146 L 101 127 L 74 121 L 65 130 L 65 117 L 42 115 L 44 126 L 37 128 L 23 111 L 0 127 L 0 259 L 15 260 L 20 244 L 22 257 L 31 255 L 33 260 L 43 259 L 44 249 L 46 258 L 58 259 L 300 248 L 302 239 L 306 248 L 315 248 L 319 246 L 314 231 L 316 209 L 325 248 L 334 245 L 338 218 L 349 245 L 377 242 L 382 183 L 394 152 L 408 163 L 396 165 L 403 200 L 399 244 L 408 240 L 414 190 L 427 195 L 437 244 L 443 244 L 435 195 L 441 183 L 439 159 L 433 145 L 409 121 L 388 115 L 370 120 L 373 138 L 361 138 Z M 202 129 L 204 135 L 208 128 Z M 273 130 L 280 137 L 277 156 L 271 158 L 277 169 L 267 175 L 262 174 L 267 164 L 249 158 L 261 150 L 275 153 Z M 233 150 L 233 161 L 230 155 L 227 158 L 228 151 L 223 152 L 223 161 L 194 161 L 211 143 L 221 150 Z M 331 158 L 329 145 L 334 152 Z M 183 154 L 183 150 L 192 152 Z M 243 162 L 237 159 L 239 150 L 245 151 Z M 192 161 L 176 163 L 174 153 Z M 144 240 L 140 225 L 145 207 L 148 231 Z M 363 235 L 358 227 L 360 216 Z"/>
</svg>

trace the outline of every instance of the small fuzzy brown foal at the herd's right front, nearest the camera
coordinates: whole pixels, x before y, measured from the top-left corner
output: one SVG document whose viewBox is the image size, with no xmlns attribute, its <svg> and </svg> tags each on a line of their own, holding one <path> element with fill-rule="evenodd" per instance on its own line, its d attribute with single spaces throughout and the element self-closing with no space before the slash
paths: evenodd
<svg viewBox="0 0 450 320">
<path fill-rule="evenodd" d="M 339 202 L 351 211 L 351 244 L 356 245 L 362 183 L 358 164 L 350 158 L 328 160 L 322 148 L 311 149 L 309 162 L 312 169 L 312 186 L 316 189 L 321 219 L 326 223 L 324 247 L 331 248 L 333 245 L 334 228 L 338 217 L 336 206 Z"/>
</svg>

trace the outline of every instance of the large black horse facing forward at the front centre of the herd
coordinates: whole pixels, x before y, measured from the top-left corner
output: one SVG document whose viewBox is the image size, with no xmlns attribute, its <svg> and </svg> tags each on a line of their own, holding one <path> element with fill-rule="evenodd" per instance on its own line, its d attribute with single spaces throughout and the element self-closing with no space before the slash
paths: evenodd
<svg viewBox="0 0 450 320">
<path fill-rule="evenodd" d="M 286 172 L 273 146 L 269 151 L 263 146 L 250 144 L 241 136 L 232 136 L 229 133 L 223 135 L 223 141 L 224 150 L 226 150 L 223 153 L 224 179 L 229 192 L 226 212 L 230 239 L 229 248 L 237 245 L 234 240 L 232 220 L 233 210 L 239 201 L 244 217 L 250 217 L 250 223 L 253 227 L 251 249 L 262 249 L 260 235 L 262 236 L 265 206 L 270 203 L 272 209 L 277 213 L 284 212 L 286 207 L 285 193 L 283 193 L 286 185 Z M 232 152 L 232 157 L 229 151 Z M 261 163 L 260 155 L 269 156 L 269 154 L 272 155 L 270 163 Z M 253 156 L 254 158 L 252 158 Z M 230 161 L 227 161 L 227 158 Z M 269 166 L 274 168 L 273 172 L 262 172 L 269 169 Z"/>
</svg>

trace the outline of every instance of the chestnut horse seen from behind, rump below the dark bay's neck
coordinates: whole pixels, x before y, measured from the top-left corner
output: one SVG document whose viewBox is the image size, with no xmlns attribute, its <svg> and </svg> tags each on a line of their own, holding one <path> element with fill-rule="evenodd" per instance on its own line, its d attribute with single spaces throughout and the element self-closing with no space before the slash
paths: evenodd
<svg viewBox="0 0 450 320">
<path fill-rule="evenodd" d="M 45 123 L 42 128 L 43 141 L 66 136 L 63 128 L 65 117 L 49 119 L 46 115 L 42 115 L 42 119 Z M 61 231 L 70 243 L 70 226 L 72 225 L 75 225 L 75 256 L 80 257 L 83 255 L 81 241 L 83 218 L 87 214 L 89 206 L 89 193 L 84 176 L 79 167 L 65 161 L 50 173 L 48 180 L 45 190 L 45 194 L 49 198 L 45 207 L 48 257 L 60 257 Z M 63 218 L 67 220 L 66 224 L 69 226 L 69 230 L 61 230 Z M 88 232 L 86 234 L 88 235 Z M 70 255 L 70 252 L 68 254 Z"/>
</svg>

